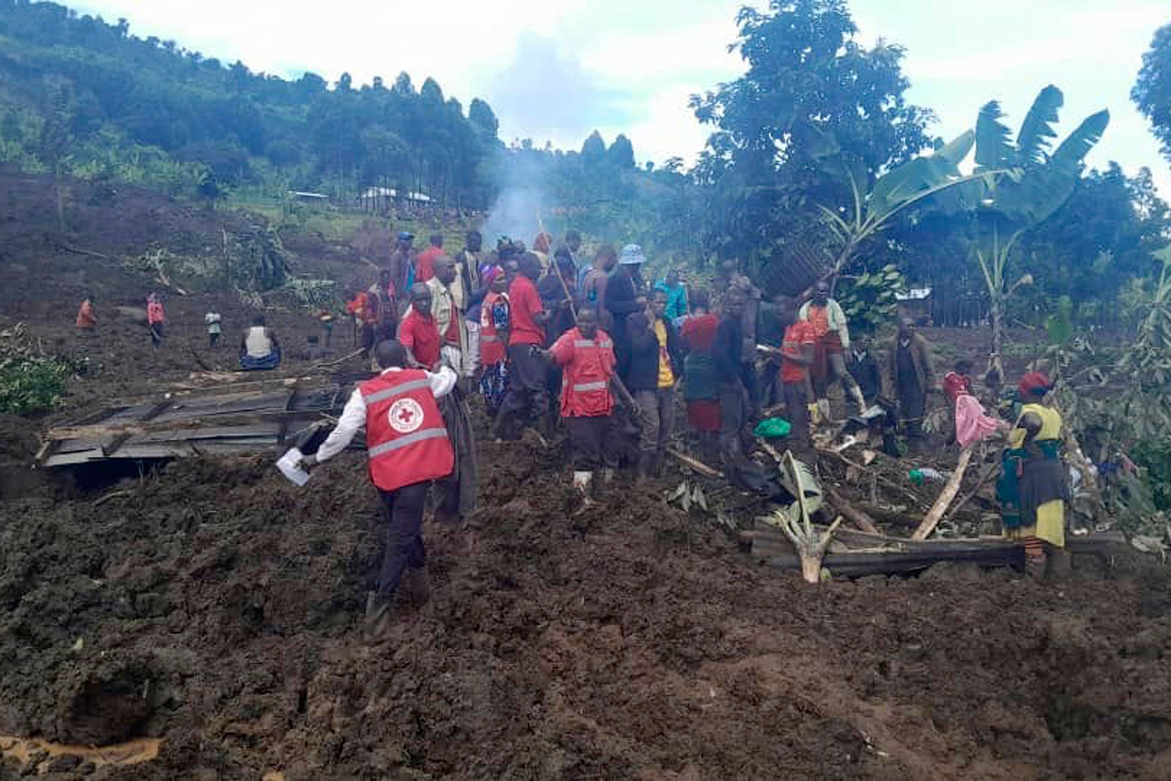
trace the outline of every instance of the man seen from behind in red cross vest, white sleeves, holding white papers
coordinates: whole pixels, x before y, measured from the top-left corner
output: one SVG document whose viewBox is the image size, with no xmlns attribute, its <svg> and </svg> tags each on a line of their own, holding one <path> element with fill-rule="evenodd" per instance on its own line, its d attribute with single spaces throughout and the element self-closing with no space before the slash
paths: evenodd
<svg viewBox="0 0 1171 781">
<path fill-rule="evenodd" d="M 334 457 L 365 427 L 370 480 L 390 518 L 377 589 L 367 595 L 367 627 L 381 634 L 399 582 L 413 602 L 424 603 L 431 596 L 423 508 L 431 481 L 451 474 L 454 463 L 436 399 L 450 393 L 457 378 L 446 366 L 437 373 L 405 368 L 406 349 L 397 341 L 379 342 L 375 355 L 382 374 L 354 389 L 337 427 L 301 467 L 313 469 Z"/>
</svg>

